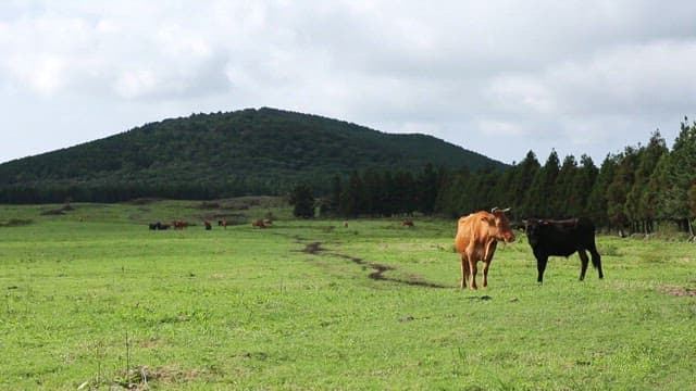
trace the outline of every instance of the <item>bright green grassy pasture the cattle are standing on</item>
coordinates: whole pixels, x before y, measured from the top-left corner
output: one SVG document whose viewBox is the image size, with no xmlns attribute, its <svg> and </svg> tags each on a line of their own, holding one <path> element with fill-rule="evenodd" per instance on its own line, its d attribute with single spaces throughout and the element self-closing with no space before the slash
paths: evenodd
<svg viewBox="0 0 696 391">
<path fill-rule="evenodd" d="M 600 236 L 604 280 L 573 255 L 538 287 L 520 235 L 461 291 L 450 220 L 72 206 L 0 206 L 0 389 L 696 388 L 693 243 Z"/>
</svg>

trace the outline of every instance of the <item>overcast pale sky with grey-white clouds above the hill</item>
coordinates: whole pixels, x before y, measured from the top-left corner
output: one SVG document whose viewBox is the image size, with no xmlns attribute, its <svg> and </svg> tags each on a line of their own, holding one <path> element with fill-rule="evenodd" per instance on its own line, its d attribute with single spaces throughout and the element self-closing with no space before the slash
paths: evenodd
<svg viewBox="0 0 696 391">
<path fill-rule="evenodd" d="M 271 106 L 505 163 L 672 146 L 696 1 L 0 1 L 0 162 Z"/>
</svg>

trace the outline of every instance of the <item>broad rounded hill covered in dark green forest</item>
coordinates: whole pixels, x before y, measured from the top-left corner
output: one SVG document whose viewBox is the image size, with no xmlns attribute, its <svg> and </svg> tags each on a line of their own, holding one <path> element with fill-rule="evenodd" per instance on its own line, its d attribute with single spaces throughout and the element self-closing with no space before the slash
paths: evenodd
<svg viewBox="0 0 696 391">
<path fill-rule="evenodd" d="M 275 109 L 164 119 L 0 165 L 0 202 L 210 199 L 328 190 L 353 171 L 472 172 L 505 164 L 425 135 L 391 135 Z"/>
</svg>

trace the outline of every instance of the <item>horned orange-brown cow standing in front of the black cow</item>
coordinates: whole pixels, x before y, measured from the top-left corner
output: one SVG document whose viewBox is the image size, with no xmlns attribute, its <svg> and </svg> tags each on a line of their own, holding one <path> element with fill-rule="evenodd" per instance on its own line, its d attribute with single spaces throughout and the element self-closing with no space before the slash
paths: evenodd
<svg viewBox="0 0 696 391">
<path fill-rule="evenodd" d="M 499 240 L 514 241 L 514 234 L 506 212 L 494 207 L 490 213 L 481 211 L 459 218 L 455 249 L 461 257 L 461 288 L 476 289 L 476 263 L 483 261 L 483 287 L 488 286 L 488 267 Z M 471 276 L 471 277 L 470 277 Z"/>
</svg>

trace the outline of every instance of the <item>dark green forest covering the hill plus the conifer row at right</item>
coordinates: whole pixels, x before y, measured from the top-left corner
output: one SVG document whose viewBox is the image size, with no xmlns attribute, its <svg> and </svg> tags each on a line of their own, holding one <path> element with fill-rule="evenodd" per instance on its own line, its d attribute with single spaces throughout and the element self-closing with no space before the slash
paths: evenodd
<svg viewBox="0 0 696 391">
<path fill-rule="evenodd" d="M 530 151 L 507 166 L 424 135 L 388 135 L 279 111 L 196 114 L 0 165 L 0 202 L 117 202 L 144 197 L 288 195 L 298 216 L 465 215 L 512 207 L 513 220 L 585 215 L 623 232 L 696 217 L 696 122 L 673 147 L 646 144 L 542 165 Z M 311 202 L 307 202 L 307 199 Z M 301 207 L 297 207 L 301 205 Z"/>
</svg>

